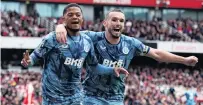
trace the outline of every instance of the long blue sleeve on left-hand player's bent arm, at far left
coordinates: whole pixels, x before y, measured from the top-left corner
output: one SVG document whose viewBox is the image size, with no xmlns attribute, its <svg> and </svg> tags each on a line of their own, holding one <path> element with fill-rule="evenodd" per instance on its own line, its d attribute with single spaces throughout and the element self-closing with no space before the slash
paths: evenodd
<svg viewBox="0 0 203 105">
<path fill-rule="evenodd" d="M 35 64 L 38 60 L 44 59 L 49 51 L 54 47 L 54 35 L 48 34 L 46 35 L 38 47 L 31 53 L 31 64 Z"/>
</svg>

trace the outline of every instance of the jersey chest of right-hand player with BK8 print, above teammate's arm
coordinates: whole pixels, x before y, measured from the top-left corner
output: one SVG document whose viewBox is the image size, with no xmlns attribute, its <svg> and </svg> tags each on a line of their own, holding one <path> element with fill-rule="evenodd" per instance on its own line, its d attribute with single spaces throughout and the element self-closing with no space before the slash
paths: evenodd
<svg viewBox="0 0 203 105">
<path fill-rule="evenodd" d="M 133 50 L 131 47 L 125 45 L 108 46 L 102 43 L 95 45 L 99 63 L 108 67 L 124 67 L 124 64 L 133 58 L 131 50 Z"/>
</svg>

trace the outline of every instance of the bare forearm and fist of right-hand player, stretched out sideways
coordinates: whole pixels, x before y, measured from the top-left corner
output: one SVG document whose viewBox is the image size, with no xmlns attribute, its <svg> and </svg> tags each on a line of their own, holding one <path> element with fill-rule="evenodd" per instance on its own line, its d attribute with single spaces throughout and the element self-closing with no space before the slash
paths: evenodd
<svg viewBox="0 0 203 105">
<path fill-rule="evenodd" d="M 195 66 L 198 62 L 198 58 L 195 56 L 182 57 L 164 50 L 154 48 L 150 48 L 146 56 L 151 57 L 160 62 L 181 63 L 187 66 Z"/>
</svg>

